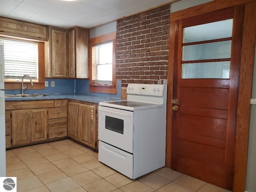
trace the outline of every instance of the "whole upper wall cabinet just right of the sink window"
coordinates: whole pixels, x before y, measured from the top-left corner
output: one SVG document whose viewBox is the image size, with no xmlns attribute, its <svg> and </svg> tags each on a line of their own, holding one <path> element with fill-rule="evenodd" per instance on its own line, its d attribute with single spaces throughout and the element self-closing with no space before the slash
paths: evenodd
<svg viewBox="0 0 256 192">
<path fill-rule="evenodd" d="M 60 28 L 48 27 L 49 40 L 44 43 L 45 77 L 67 77 L 68 31 Z"/>
</svg>

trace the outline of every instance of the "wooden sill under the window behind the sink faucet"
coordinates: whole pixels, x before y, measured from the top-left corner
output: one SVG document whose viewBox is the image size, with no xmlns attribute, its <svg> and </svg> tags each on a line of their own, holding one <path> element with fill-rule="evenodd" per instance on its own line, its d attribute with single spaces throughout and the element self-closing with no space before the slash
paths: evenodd
<svg viewBox="0 0 256 192">
<path fill-rule="evenodd" d="M 24 82 L 24 86 L 28 86 L 27 90 L 39 90 L 39 89 L 45 89 L 44 82 L 33 82 L 34 86 L 30 85 L 30 82 Z M 5 90 L 19 90 L 21 89 L 21 82 L 4 82 L 4 89 Z"/>
</svg>

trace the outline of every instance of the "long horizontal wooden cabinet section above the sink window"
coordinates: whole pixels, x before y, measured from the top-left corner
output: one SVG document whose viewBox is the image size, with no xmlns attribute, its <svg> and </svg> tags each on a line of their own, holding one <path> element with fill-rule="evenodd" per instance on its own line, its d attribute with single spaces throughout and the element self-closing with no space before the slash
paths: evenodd
<svg viewBox="0 0 256 192">
<path fill-rule="evenodd" d="M 46 26 L 0 17 L 0 35 L 46 41 Z"/>
</svg>

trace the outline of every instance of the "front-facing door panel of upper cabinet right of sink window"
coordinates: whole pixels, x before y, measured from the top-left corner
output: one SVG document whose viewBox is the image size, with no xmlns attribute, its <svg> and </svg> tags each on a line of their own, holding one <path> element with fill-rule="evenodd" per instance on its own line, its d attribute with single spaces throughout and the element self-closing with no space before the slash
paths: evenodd
<svg viewBox="0 0 256 192">
<path fill-rule="evenodd" d="M 66 77 L 66 38 L 66 32 L 52 29 L 52 77 Z"/>
</svg>

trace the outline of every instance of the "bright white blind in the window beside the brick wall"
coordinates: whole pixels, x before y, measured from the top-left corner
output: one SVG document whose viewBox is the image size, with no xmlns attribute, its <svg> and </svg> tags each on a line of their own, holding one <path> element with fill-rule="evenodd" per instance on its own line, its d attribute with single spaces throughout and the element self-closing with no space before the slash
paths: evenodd
<svg viewBox="0 0 256 192">
<path fill-rule="evenodd" d="M 113 41 L 94 45 L 94 84 L 112 84 Z"/>
</svg>

